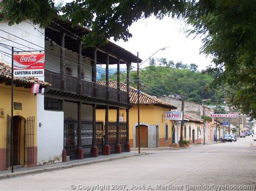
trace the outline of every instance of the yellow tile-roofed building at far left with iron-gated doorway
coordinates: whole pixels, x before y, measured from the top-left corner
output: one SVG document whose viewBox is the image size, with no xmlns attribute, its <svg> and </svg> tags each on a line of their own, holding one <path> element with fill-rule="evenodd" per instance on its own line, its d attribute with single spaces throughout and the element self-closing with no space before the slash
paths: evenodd
<svg viewBox="0 0 256 191">
<path fill-rule="evenodd" d="M 11 165 L 11 68 L 0 62 L 0 170 Z M 48 83 L 33 77 L 14 78 L 14 166 L 37 164 L 37 95 L 32 84 L 41 88 Z"/>
</svg>

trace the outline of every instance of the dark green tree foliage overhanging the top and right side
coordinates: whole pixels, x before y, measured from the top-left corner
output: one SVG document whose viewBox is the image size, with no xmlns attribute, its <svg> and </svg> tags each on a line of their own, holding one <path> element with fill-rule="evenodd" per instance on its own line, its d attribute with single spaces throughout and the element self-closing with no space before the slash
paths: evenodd
<svg viewBox="0 0 256 191">
<path fill-rule="evenodd" d="M 205 36 L 201 52 L 211 55 L 214 69 L 222 71 L 215 84 L 227 83 L 232 88 L 230 101 L 256 118 L 255 0 L 80 0 L 59 8 L 52 0 L 3 0 L 2 7 L 2 20 L 10 24 L 30 19 L 43 27 L 60 18 L 86 26 L 92 32 L 83 38 L 85 46 L 104 44 L 110 37 L 127 41 L 132 37 L 129 26 L 152 15 L 185 19 L 194 27 L 190 35 Z"/>
</svg>

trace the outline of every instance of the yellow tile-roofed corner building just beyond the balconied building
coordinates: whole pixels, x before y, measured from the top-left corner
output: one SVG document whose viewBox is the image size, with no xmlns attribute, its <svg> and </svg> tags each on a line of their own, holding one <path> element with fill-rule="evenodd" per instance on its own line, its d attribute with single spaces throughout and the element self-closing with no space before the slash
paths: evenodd
<svg viewBox="0 0 256 191">
<path fill-rule="evenodd" d="M 105 82 L 99 82 L 105 84 Z M 110 87 L 116 88 L 117 82 L 110 82 Z M 126 85 L 121 83 L 121 89 L 126 89 Z M 131 147 L 138 147 L 138 94 L 137 90 L 130 87 L 130 103 L 132 108 L 129 110 L 129 142 Z M 175 139 L 178 135 L 173 127 L 173 121 L 166 119 L 166 112 L 176 109 L 171 104 L 159 100 L 156 97 L 146 93 L 139 95 L 140 100 L 140 146 L 141 147 L 161 147 L 169 146 L 172 143 L 172 137 Z M 97 119 L 104 121 L 105 111 L 97 110 Z M 120 115 L 116 111 L 110 111 L 111 121 L 116 121 L 117 117 L 126 119 L 125 110 L 120 110 Z M 175 141 L 175 140 L 174 140 Z"/>
</svg>

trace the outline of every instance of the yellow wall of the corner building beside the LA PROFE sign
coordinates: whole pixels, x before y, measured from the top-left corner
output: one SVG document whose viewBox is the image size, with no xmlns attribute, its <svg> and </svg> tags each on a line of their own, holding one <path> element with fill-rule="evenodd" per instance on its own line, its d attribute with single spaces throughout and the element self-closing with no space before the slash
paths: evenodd
<svg viewBox="0 0 256 191">
<path fill-rule="evenodd" d="M 140 124 L 158 125 L 159 126 L 159 146 L 169 146 L 171 142 L 171 129 L 173 121 L 165 119 L 166 111 L 170 111 L 167 108 L 161 108 L 155 105 L 140 105 Z M 120 115 L 124 117 L 126 122 L 126 110 L 120 109 Z M 96 119 L 104 121 L 105 123 L 105 110 L 96 110 Z M 109 110 L 109 121 L 117 121 L 116 110 Z M 129 112 L 129 142 L 131 147 L 133 145 L 133 128 L 138 124 L 138 107 L 133 105 Z M 168 142 L 165 142 L 165 124 L 168 125 Z"/>
</svg>

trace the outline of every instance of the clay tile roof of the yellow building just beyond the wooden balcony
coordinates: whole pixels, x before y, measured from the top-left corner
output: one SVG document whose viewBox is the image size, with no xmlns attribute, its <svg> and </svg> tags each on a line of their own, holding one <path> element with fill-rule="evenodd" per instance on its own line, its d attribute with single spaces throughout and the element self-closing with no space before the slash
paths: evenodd
<svg viewBox="0 0 256 191">
<path fill-rule="evenodd" d="M 106 86 L 105 81 L 98 81 L 97 83 L 100 85 Z M 117 89 L 117 81 L 110 81 L 109 87 Z M 126 91 L 126 84 L 120 82 L 120 90 Z M 130 95 L 130 103 L 137 104 L 138 103 L 137 89 L 130 86 L 129 95 Z M 177 109 L 174 105 L 171 105 L 163 100 L 160 100 L 160 99 L 153 97 L 149 94 L 146 94 L 144 92 L 139 96 L 139 103 L 140 104 L 154 104 L 154 105 L 158 105 L 163 108 Z"/>
</svg>

